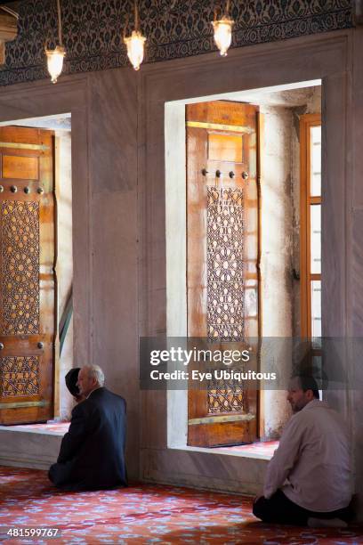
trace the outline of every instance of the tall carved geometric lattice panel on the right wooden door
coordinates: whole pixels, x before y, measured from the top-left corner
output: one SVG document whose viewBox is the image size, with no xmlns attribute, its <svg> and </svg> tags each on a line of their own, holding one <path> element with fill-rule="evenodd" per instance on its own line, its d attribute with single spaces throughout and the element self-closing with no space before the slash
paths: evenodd
<svg viewBox="0 0 363 545">
<path fill-rule="evenodd" d="M 243 191 L 207 186 L 207 337 L 244 336 Z"/>
</svg>

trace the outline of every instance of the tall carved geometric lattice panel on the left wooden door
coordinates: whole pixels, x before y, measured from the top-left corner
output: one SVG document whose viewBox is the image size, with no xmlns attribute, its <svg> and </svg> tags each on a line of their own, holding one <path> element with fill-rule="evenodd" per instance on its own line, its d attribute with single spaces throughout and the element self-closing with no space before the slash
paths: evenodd
<svg viewBox="0 0 363 545">
<path fill-rule="evenodd" d="M 39 332 L 39 204 L 1 206 L 4 335 Z"/>
</svg>

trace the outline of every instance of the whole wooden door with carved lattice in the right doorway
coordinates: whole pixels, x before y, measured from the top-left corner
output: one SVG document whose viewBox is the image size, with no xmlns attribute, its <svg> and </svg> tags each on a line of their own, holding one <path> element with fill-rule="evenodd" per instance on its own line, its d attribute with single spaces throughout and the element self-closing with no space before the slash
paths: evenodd
<svg viewBox="0 0 363 545">
<path fill-rule="evenodd" d="M 187 106 L 188 336 L 218 349 L 259 335 L 257 116 L 238 102 Z M 190 388 L 188 416 L 190 445 L 252 442 L 257 392 L 213 378 Z"/>
</svg>

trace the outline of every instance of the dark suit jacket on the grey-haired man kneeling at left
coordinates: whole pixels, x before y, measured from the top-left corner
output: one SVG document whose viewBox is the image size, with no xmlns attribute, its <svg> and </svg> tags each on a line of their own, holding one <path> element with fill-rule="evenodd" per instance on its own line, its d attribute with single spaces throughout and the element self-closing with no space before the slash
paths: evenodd
<svg viewBox="0 0 363 545">
<path fill-rule="evenodd" d="M 125 432 L 125 399 L 104 387 L 94 390 L 72 411 L 57 463 L 49 470 L 52 483 L 67 490 L 125 486 Z"/>
</svg>

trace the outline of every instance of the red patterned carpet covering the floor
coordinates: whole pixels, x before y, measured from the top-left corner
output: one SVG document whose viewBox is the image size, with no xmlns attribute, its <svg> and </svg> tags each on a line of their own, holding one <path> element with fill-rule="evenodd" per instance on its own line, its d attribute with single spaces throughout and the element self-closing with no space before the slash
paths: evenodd
<svg viewBox="0 0 363 545">
<path fill-rule="evenodd" d="M 10 537 L 57 528 L 52 539 Z M 349 531 L 262 525 L 245 496 L 149 484 L 108 492 L 58 492 L 44 471 L 0 468 L 0 542 L 218 543 L 250 545 L 363 543 L 363 529 Z"/>
</svg>

